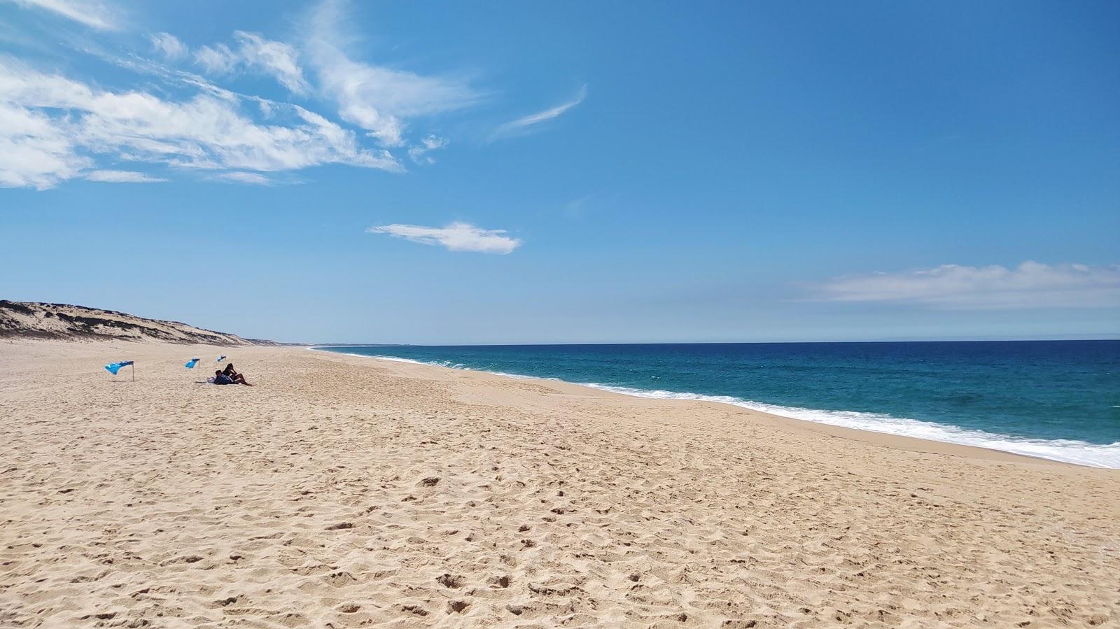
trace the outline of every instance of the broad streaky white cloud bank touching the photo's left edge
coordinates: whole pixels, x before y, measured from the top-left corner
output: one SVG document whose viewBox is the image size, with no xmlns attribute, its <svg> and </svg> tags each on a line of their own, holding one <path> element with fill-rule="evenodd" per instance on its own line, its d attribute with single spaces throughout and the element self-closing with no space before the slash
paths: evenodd
<svg viewBox="0 0 1120 629">
<path fill-rule="evenodd" d="M 49 188 L 93 167 L 95 154 L 209 170 L 325 163 L 400 170 L 386 151 L 362 148 L 353 131 L 272 103 L 281 107 L 284 120 L 265 125 L 230 92 L 204 91 L 181 102 L 105 92 L 0 57 L 0 186 Z"/>
</svg>

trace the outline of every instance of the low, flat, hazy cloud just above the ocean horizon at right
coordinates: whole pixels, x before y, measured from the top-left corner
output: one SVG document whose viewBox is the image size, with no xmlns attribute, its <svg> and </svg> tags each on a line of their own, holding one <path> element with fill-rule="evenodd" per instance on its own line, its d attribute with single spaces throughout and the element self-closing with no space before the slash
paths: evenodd
<svg viewBox="0 0 1120 629">
<path fill-rule="evenodd" d="M 1120 265 L 960 266 L 836 278 L 830 301 L 921 303 L 941 308 L 1099 308 L 1120 306 Z"/>
</svg>

